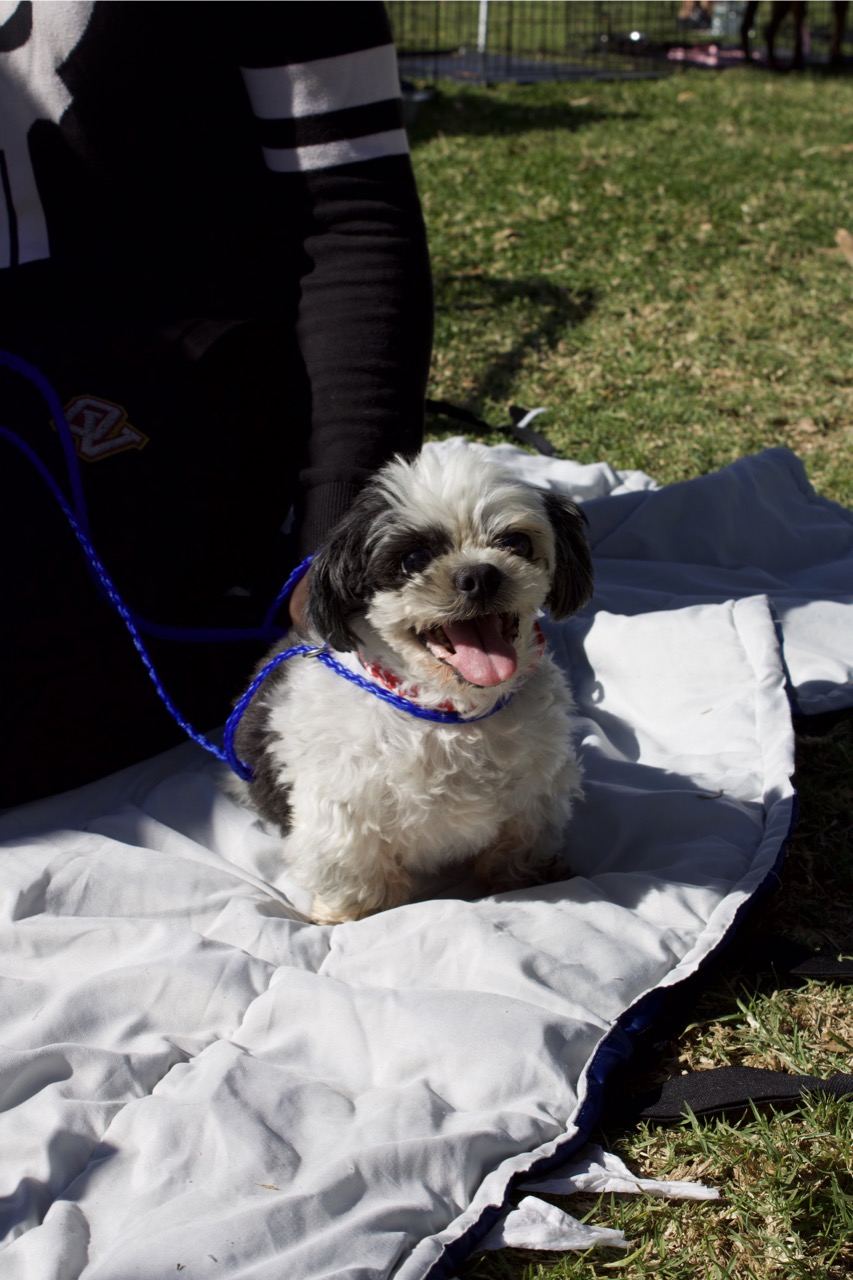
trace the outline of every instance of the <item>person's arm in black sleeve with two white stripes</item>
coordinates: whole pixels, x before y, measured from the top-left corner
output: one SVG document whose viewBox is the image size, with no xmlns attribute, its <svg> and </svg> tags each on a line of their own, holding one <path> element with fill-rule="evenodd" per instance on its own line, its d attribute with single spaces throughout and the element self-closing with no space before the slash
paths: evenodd
<svg viewBox="0 0 853 1280">
<path fill-rule="evenodd" d="M 270 184 L 302 250 L 306 554 L 373 471 L 420 447 L 432 343 L 426 236 L 384 6 L 238 9 L 252 10 L 241 70 Z"/>
</svg>

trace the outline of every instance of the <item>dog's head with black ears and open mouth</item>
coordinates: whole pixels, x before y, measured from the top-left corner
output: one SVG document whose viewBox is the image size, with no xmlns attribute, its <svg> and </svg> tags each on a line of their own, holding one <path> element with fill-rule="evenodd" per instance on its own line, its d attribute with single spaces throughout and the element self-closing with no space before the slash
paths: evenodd
<svg viewBox="0 0 853 1280">
<path fill-rule="evenodd" d="M 569 617 L 590 591 L 575 504 L 459 444 L 397 458 L 362 490 L 315 559 L 309 620 L 437 695 L 503 692 L 535 652 L 538 612 Z"/>
</svg>

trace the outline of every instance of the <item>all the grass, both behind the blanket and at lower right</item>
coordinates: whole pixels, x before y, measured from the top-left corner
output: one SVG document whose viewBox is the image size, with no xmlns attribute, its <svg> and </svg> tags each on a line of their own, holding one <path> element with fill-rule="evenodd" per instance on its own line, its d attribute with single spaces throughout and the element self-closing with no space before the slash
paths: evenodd
<svg viewBox="0 0 853 1280">
<path fill-rule="evenodd" d="M 836 242 L 853 234 L 853 77 L 443 84 L 411 137 L 437 284 L 432 396 L 493 422 L 544 404 L 537 428 L 565 457 L 665 483 L 785 444 L 853 506 L 853 265 Z M 800 736 L 797 781 L 761 928 L 850 954 L 849 719 Z M 853 1071 L 852 1009 L 849 988 L 786 988 L 733 961 L 658 1074 Z M 638 1172 L 722 1199 L 573 1199 L 635 1249 L 475 1256 L 462 1280 L 853 1274 L 853 1101 L 598 1137 Z"/>
</svg>

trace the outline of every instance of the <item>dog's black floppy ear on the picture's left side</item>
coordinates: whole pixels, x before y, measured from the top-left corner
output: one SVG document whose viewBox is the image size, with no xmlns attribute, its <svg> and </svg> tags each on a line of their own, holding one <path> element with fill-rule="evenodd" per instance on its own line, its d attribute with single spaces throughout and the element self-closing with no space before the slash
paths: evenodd
<svg viewBox="0 0 853 1280">
<path fill-rule="evenodd" d="M 347 625 L 368 600 L 368 536 L 387 500 L 373 486 L 362 489 L 316 553 L 309 577 L 307 621 L 339 653 L 355 649 Z"/>
</svg>

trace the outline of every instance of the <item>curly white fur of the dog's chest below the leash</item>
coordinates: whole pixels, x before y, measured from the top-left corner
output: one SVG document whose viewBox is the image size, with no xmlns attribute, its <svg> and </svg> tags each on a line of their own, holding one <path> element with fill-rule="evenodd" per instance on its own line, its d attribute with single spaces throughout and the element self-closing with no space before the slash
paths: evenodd
<svg viewBox="0 0 853 1280">
<path fill-rule="evenodd" d="M 450 863 L 479 860 L 491 887 L 548 865 L 579 794 L 569 709 L 548 658 L 496 716 L 450 726 L 412 719 L 320 664 L 297 672 L 270 710 L 268 751 L 289 792 L 284 856 L 325 904 L 315 915 L 334 918 L 342 891 L 365 910 L 405 901 Z"/>
</svg>

